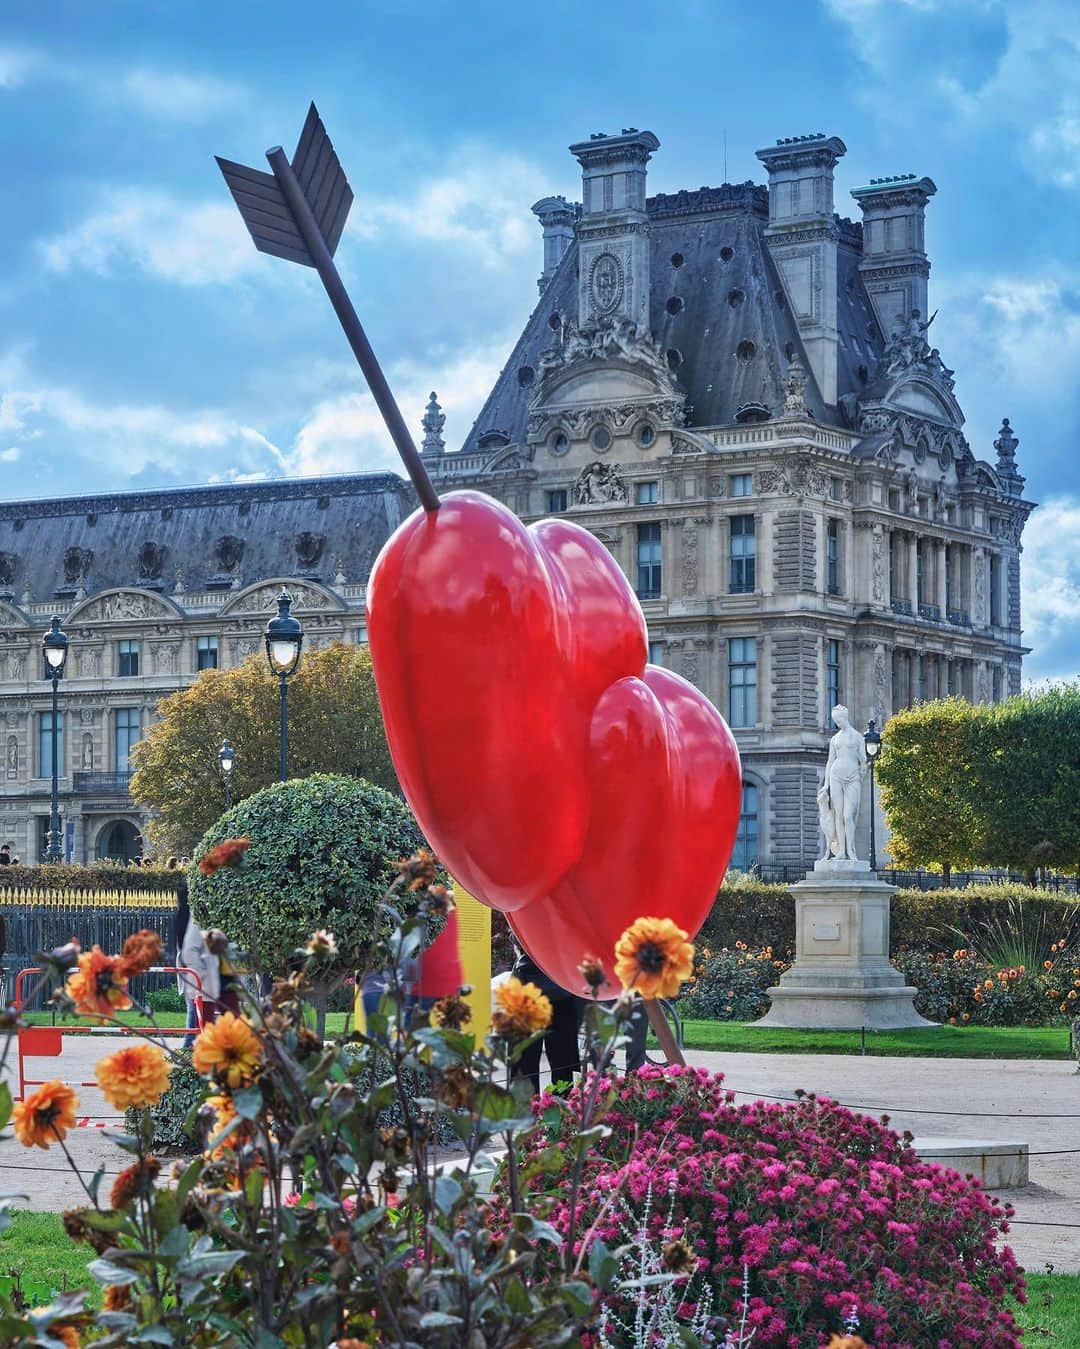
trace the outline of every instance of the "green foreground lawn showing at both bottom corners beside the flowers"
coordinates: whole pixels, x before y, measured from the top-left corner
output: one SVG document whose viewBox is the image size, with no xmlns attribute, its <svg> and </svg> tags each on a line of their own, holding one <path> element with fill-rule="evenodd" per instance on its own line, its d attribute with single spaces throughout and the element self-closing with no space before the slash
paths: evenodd
<svg viewBox="0 0 1080 1349">
<path fill-rule="evenodd" d="M 90 1288 L 90 1304 L 98 1307 L 101 1295 L 86 1273 L 92 1259 L 89 1246 L 66 1236 L 59 1214 L 16 1213 L 0 1234 L 0 1286 L 13 1269 L 38 1304 L 65 1288 Z M 1029 1275 L 1027 1306 L 1014 1310 L 1029 1344 L 1080 1345 L 1080 1275 Z"/>
</svg>

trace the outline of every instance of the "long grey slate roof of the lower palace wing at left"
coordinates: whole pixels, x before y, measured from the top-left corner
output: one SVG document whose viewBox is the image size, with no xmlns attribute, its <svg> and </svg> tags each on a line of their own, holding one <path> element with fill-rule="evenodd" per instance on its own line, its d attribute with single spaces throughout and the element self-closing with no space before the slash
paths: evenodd
<svg viewBox="0 0 1080 1349">
<path fill-rule="evenodd" d="M 363 583 L 414 509 L 394 473 L 0 503 L 0 599 L 240 591 L 267 576 Z"/>
</svg>

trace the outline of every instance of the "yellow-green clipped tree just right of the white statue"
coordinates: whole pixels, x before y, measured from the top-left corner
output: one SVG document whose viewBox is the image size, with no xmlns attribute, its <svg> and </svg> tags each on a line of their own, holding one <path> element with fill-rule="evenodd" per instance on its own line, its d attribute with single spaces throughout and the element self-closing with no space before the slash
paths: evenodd
<svg viewBox="0 0 1080 1349">
<path fill-rule="evenodd" d="M 899 866 L 940 866 L 945 884 L 971 866 L 979 839 L 973 720 L 961 697 L 920 703 L 890 718 L 876 777 Z"/>
</svg>

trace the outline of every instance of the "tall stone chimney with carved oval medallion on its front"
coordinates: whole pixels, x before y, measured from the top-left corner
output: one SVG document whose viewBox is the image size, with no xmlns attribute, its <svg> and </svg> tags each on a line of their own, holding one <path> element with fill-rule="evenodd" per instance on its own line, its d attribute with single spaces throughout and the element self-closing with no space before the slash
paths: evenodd
<svg viewBox="0 0 1080 1349">
<path fill-rule="evenodd" d="M 649 225 L 644 177 L 659 150 L 651 131 L 597 132 L 570 154 L 581 165 L 578 326 L 618 317 L 649 332 Z"/>
</svg>

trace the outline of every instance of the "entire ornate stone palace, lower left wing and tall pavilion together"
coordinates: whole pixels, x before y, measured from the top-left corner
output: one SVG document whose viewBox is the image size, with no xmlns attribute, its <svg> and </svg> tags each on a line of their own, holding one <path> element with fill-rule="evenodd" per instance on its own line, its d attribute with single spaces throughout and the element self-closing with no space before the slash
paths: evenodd
<svg viewBox="0 0 1080 1349">
<path fill-rule="evenodd" d="M 572 146 L 581 204 L 533 210 L 539 304 L 460 451 L 431 395 L 423 456 L 523 519 L 568 513 L 636 587 L 651 660 L 728 719 L 744 766 L 733 865 L 808 866 L 845 703 L 1018 692 L 1031 510 L 1009 421 L 964 437 L 932 345 L 906 174 L 833 208 L 836 136 L 758 152 L 769 183 L 650 197 L 651 132 Z M 260 648 L 282 583 L 307 643 L 364 639 L 364 583 L 411 509 L 394 475 L 0 506 L 0 835 L 39 855 L 51 715 L 40 637 L 71 637 L 63 803 L 76 858 L 138 847 L 127 753 L 158 697 Z M 866 827 L 866 820 L 863 822 Z"/>
</svg>

